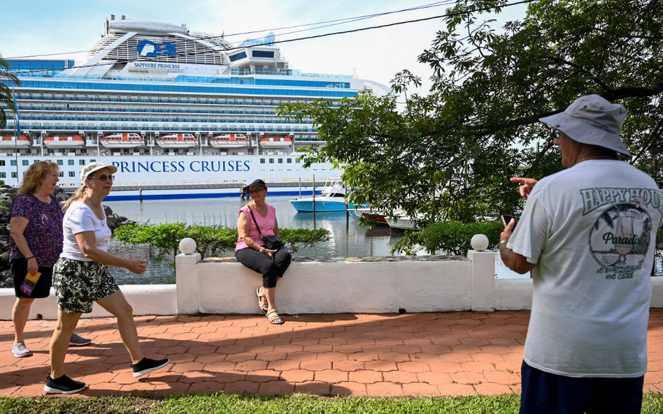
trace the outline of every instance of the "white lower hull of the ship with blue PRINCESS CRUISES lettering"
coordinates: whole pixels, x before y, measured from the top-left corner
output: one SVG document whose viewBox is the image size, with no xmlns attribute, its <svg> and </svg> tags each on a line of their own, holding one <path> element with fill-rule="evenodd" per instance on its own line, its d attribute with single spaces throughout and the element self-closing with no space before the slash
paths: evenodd
<svg viewBox="0 0 663 414">
<path fill-rule="evenodd" d="M 59 186 L 76 191 L 80 186 L 79 173 L 83 165 L 98 161 L 115 165 L 113 189 L 106 200 L 138 200 L 168 198 L 239 197 L 241 188 L 261 178 L 267 183 L 271 195 L 300 195 L 322 190 L 321 182 L 338 176 L 339 170 L 331 163 L 315 164 L 304 170 L 297 163 L 298 154 L 286 156 L 52 156 L 47 157 L 59 165 Z M 0 154 L 0 172 L 6 176 L 22 177 L 27 165 L 44 157 Z M 271 160 L 271 161 L 270 161 Z M 27 163 L 27 165 L 23 165 Z M 2 165 L 3 164 L 3 165 Z M 17 164 L 17 165 L 12 165 Z M 274 168 L 290 165 L 290 170 Z M 12 174 L 14 173 L 14 174 Z M 5 179 L 5 184 L 17 186 L 17 179 Z"/>
</svg>

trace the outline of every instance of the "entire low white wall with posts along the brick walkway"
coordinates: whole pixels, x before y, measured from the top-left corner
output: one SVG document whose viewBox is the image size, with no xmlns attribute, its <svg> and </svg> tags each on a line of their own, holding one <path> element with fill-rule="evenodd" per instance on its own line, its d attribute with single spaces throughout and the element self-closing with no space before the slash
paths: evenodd
<svg viewBox="0 0 663 414">
<path fill-rule="evenodd" d="M 531 309 L 531 279 L 495 279 L 492 251 L 467 258 L 293 261 L 277 286 L 280 313 L 397 313 Z M 176 258 L 177 285 L 127 285 L 135 315 L 259 313 L 256 272 L 230 258 Z M 653 277 L 652 307 L 663 308 L 663 277 Z M 0 319 L 9 320 L 13 289 L 0 289 Z M 30 318 L 57 318 L 55 296 L 36 300 Z M 110 316 L 100 306 L 84 317 Z"/>
</svg>

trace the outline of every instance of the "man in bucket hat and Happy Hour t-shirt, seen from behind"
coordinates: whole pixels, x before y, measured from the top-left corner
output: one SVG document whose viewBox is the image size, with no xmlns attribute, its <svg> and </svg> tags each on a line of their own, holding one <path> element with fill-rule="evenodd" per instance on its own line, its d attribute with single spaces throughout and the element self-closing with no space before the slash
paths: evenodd
<svg viewBox="0 0 663 414">
<path fill-rule="evenodd" d="M 582 96 L 541 118 L 559 131 L 566 170 L 520 182 L 518 226 L 500 255 L 532 271 L 520 413 L 640 413 L 661 193 L 618 154 L 626 110 Z M 536 184 L 536 186 L 535 186 Z"/>
</svg>

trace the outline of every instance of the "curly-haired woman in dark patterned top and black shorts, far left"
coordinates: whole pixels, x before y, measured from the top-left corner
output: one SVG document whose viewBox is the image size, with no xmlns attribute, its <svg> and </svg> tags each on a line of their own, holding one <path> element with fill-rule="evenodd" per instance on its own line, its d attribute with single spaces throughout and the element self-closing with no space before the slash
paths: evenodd
<svg viewBox="0 0 663 414">
<path fill-rule="evenodd" d="M 62 252 L 62 209 L 52 195 L 59 182 L 59 168 L 51 161 L 36 161 L 23 176 L 10 209 L 9 261 L 16 302 L 11 312 L 14 343 L 11 348 L 17 358 L 29 357 L 23 330 L 30 307 L 35 299 L 48 297 L 52 283 L 53 265 Z M 24 285 L 27 274 L 41 276 L 34 285 Z M 83 346 L 90 339 L 72 333 L 69 345 Z"/>
</svg>

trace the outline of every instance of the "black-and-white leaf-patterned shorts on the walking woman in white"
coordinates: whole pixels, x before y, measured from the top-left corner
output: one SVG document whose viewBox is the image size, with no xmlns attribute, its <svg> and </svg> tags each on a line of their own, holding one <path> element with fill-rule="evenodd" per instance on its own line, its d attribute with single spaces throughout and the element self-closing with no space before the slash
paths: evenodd
<svg viewBox="0 0 663 414">
<path fill-rule="evenodd" d="M 92 303 L 120 290 L 108 265 L 59 258 L 53 267 L 57 308 L 66 313 L 90 313 Z"/>
</svg>

